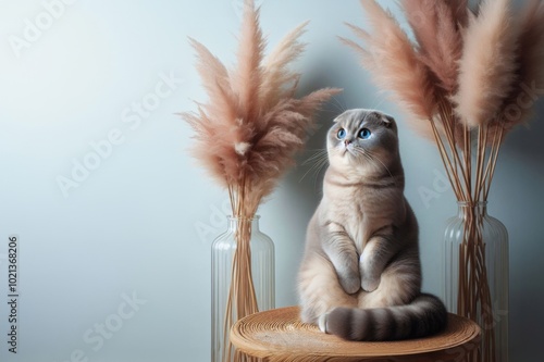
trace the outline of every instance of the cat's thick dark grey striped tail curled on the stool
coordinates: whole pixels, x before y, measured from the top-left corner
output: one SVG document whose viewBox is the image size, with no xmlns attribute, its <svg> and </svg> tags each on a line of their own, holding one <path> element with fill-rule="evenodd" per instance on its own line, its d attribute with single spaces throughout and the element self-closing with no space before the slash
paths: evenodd
<svg viewBox="0 0 544 362">
<path fill-rule="evenodd" d="M 407 305 L 336 308 L 323 322 L 324 332 L 348 340 L 399 340 L 441 332 L 447 324 L 447 311 L 438 298 L 422 294 Z"/>
</svg>

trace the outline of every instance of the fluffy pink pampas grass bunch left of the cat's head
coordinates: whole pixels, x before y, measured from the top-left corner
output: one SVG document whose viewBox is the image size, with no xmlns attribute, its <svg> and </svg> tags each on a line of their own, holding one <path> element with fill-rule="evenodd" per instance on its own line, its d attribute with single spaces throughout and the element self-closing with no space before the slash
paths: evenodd
<svg viewBox="0 0 544 362">
<path fill-rule="evenodd" d="M 300 74 L 288 68 L 304 51 L 307 23 L 296 27 L 264 58 L 259 10 L 245 2 L 237 65 L 227 70 L 203 45 L 189 39 L 209 101 L 181 116 L 194 129 L 191 154 L 228 188 L 233 212 L 250 217 L 293 164 L 319 108 L 339 89 L 294 98 Z M 242 213 L 242 214 L 239 214 Z"/>
</svg>

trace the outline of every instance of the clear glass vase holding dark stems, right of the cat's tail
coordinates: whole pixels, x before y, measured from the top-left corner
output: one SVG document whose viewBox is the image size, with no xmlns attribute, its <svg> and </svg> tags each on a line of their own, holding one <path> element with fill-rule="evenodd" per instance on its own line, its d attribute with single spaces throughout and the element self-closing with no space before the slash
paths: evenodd
<svg viewBox="0 0 544 362">
<path fill-rule="evenodd" d="M 443 248 L 444 301 L 482 328 L 470 362 L 508 361 L 508 233 L 486 202 L 458 202 Z"/>
</svg>

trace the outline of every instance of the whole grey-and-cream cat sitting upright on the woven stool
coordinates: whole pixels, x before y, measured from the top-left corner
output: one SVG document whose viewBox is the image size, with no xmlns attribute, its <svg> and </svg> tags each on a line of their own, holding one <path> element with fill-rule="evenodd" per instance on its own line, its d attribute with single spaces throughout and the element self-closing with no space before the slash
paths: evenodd
<svg viewBox="0 0 544 362">
<path fill-rule="evenodd" d="M 368 139 L 358 138 L 362 128 L 371 132 Z M 299 271 L 301 320 L 351 340 L 441 330 L 444 304 L 421 294 L 418 223 L 404 197 L 394 118 L 344 112 L 329 130 L 327 153 L 323 198 L 308 225 Z"/>
</svg>

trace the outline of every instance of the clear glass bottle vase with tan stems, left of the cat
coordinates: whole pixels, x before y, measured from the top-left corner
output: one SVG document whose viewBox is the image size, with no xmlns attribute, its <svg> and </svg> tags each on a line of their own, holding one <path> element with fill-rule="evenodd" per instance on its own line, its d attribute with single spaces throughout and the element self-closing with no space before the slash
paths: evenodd
<svg viewBox="0 0 544 362">
<path fill-rule="evenodd" d="M 211 252 L 211 361 L 234 361 L 231 326 L 274 308 L 274 244 L 259 229 L 259 216 L 228 217 Z"/>
</svg>

